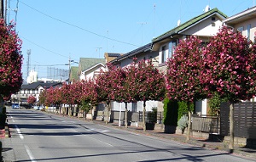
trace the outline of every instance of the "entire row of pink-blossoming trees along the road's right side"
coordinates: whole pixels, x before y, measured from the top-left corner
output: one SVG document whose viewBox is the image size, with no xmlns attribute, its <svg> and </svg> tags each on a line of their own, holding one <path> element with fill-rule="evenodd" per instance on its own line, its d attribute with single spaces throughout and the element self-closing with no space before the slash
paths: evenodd
<svg viewBox="0 0 256 162">
<path fill-rule="evenodd" d="M 105 101 L 108 110 L 111 100 L 124 102 L 125 105 L 143 101 L 144 119 L 148 100 L 161 101 L 167 97 L 172 101 L 186 102 L 190 108 L 189 105 L 196 100 L 218 94 L 230 102 L 230 150 L 233 150 L 234 103 L 253 98 L 255 94 L 255 50 L 256 45 L 247 41 L 240 32 L 223 27 L 216 36 L 212 36 L 206 47 L 202 47 L 201 40 L 196 36 L 181 41 L 173 58 L 167 60 L 166 75 L 160 74 L 150 61 L 137 62 L 135 59 L 133 64 L 125 68 L 108 64 L 108 71 L 102 71 L 96 81 L 64 84 L 60 89 L 50 88 L 40 95 L 40 101 L 44 98 L 43 103 L 78 105 L 94 105 Z M 191 109 L 188 130 L 190 120 Z"/>
</svg>

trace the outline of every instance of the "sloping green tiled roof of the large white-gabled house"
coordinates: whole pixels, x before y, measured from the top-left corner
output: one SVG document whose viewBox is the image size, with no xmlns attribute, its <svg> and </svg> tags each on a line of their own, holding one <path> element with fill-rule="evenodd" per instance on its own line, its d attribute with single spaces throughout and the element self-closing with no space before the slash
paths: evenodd
<svg viewBox="0 0 256 162">
<path fill-rule="evenodd" d="M 184 29 L 188 28 L 189 26 L 194 25 L 198 21 L 200 21 L 200 20 L 202 20 L 202 19 L 206 18 L 207 16 L 209 16 L 211 14 L 214 14 L 214 13 L 218 13 L 221 16 L 223 16 L 224 18 L 227 17 L 227 15 L 222 13 L 222 12 L 220 12 L 218 10 L 218 8 L 213 8 L 213 9 L 209 10 L 208 12 L 206 12 L 204 14 L 200 14 L 199 16 L 196 16 L 195 18 L 193 18 L 191 20 L 188 20 L 187 22 L 185 22 L 185 23 L 183 23 L 181 25 L 178 25 L 177 27 L 173 28 L 171 31 L 167 31 L 166 33 L 164 33 L 164 34 L 154 38 L 152 40 L 152 42 L 159 42 L 159 41 L 165 39 L 166 37 L 178 34 L 179 31 L 183 31 Z"/>
</svg>

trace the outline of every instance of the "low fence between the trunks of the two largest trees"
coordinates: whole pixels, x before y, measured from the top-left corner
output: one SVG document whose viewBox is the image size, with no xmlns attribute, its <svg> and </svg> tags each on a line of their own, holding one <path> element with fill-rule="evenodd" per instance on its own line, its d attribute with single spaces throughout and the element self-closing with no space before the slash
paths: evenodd
<svg viewBox="0 0 256 162">
<path fill-rule="evenodd" d="M 192 116 L 192 131 L 202 131 L 218 134 L 218 128 L 218 116 Z"/>
</svg>

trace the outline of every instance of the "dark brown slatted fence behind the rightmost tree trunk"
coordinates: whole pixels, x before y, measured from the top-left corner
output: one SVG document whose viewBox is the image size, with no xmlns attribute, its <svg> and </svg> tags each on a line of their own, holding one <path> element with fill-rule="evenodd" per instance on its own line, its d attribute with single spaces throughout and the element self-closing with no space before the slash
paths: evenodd
<svg viewBox="0 0 256 162">
<path fill-rule="evenodd" d="M 220 105 L 220 134 L 230 134 L 230 103 Z M 234 135 L 256 139 L 256 103 L 243 102 L 234 104 Z"/>
</svg>

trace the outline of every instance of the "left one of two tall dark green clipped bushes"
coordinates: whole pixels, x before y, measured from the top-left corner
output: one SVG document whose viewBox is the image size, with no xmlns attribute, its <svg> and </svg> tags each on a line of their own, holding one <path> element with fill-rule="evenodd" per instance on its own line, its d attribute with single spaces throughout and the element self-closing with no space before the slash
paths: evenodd
<svg viewBox="0 0 256 162">
<path fill-rule="evenodd" d="M 164 125 L 177 126 L 177 101 L 171 101 L 169 98 L 164 99 Z"/>
</svg>

